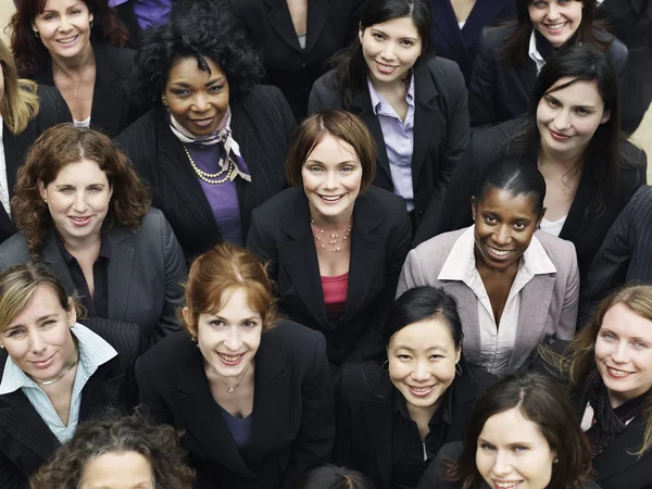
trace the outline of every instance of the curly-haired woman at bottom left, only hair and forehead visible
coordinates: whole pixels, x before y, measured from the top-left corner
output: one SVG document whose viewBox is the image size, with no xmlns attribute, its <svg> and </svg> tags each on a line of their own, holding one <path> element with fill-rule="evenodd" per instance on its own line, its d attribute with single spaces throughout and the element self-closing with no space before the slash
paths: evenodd
<svg viewBox="0 0 652 489">
<path fill-rule="evenodd" d="M 32 489 L 190 489 L 193 473 L 170 426 L 111 413 L 77 428 L 30 480 Z"/>
</svg>

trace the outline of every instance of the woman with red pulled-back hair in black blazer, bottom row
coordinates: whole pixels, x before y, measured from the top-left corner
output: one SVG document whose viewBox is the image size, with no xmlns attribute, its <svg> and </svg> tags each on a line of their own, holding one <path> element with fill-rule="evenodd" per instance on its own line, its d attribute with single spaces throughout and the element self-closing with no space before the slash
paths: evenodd
<svg viewBox="0 0 652 489">
<path fill-rule="evenodd" d="M 187 333 L 136 366 L 140 402 L 184 432 L 196 489 L 277 489 L 327 462 L 335 415 L 322 334 L 277 316 L 272 281 L 233 243 L 200 255 Z"/>
</svg>

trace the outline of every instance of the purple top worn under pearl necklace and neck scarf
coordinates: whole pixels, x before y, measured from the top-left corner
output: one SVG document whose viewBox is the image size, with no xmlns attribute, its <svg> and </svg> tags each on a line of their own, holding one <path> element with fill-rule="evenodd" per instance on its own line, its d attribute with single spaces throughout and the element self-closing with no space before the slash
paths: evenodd
<svg viewBox="0 0 652 489">
<path fill-rule="evenodd" d="M 195 164 L 206 173 L 217 173 L 220 171 L 220 156 L 223 151 L 222 145 L 199 146 L 185 143 L 188 152 L 195 160 Z M 190 162 L 188 162 L 190 164 Z M 242 164 L 243 160 L 242 160 Z M 246 168 L 242 168 L 246 170 Z M 249 171 L 247 171 L 249 173 Z M 239 178 L 239 177 L 237 177 Z M 226 241 L 243 246 L 242 226 L 240 224 L 240 204 L 238 202 L 238 192 L 235 180 L 227 180 L 224 184 L 211 185 L 197 177 L 201 185 L 220 234 Z"/>
</svg>

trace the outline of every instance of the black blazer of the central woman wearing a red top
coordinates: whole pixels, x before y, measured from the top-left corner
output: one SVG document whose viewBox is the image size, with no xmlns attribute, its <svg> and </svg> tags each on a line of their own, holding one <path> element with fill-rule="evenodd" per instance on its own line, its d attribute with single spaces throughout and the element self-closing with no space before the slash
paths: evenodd
<svg viewBox="0 0 652 489">
<path fill-rule="evenodd" d="M 326 314 L 303 188 L 285 190 L 256 209 L 247 242 L 269 262 L 268 273 L 278 287 L 284 312 L 324 334 L 334 365 L 383 351 L 385 315 L 410 251 L 410 218 L 403 200 L 373 186 L 360 193 L 350 239 L 349 289 L 338 321 L 329 321 Z"/>
</svg>

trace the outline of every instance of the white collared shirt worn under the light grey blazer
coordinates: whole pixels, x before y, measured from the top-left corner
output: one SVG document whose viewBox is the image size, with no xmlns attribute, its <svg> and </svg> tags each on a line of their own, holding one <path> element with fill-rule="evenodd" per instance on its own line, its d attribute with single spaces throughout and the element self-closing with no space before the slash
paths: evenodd
<svg viewBox="0 0 652 489">
<path fill-rule="evenodd" d="M 474 250 L 474 226 L 471 226 L 451 248 L 437 279 L 461 280 L 475 293 L 480 329 L 480 366 L 492 374 L 505 375 L 518 331 L 519 292 L 535 275 L 556 273 L 556 268 L 537 237 L 532 236 L 532 240 L 518 264 L 518 271 L 512 283 L 500 324 L 497 325 L 487 289 L 476 268 Z M 474 327 L 474 325 L 465 326 Z M 465 348 L 464 344 L 463 348 Z M 515 359 L 515 361 L 516 364 L 521 363 L 521 359 Z"/>
</svg>

